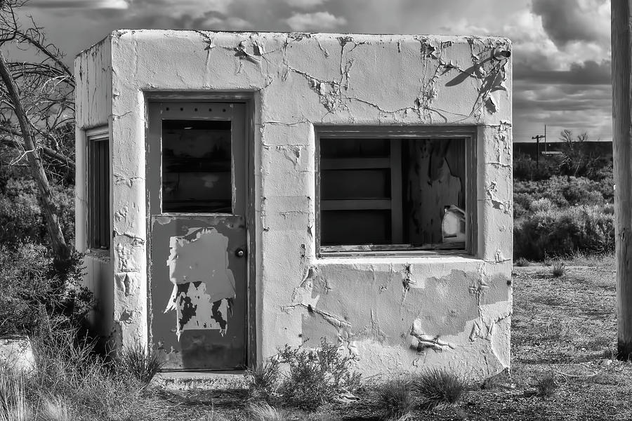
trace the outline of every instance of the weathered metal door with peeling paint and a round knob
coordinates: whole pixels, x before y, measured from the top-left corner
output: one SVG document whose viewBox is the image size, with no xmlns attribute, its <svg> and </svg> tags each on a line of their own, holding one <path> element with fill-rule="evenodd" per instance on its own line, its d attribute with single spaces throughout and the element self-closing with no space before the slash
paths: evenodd
<svg viewBox="0 0 632 421">
<path fill-rule="evenodd" d="M 164 370 L 246 366 L 246 107 L 150 102 L 150 339 Z"/>
</svg>

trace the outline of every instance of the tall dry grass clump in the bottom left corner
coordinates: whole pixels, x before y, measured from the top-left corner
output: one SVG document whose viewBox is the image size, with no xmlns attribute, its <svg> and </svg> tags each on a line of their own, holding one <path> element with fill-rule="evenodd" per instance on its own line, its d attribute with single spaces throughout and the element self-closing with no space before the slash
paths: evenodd
<svg viewBox="0 0 632 421">
<path fill-rule="evenodd" d="M 51 325 L 32 338 L 34 370 L 0 373 L 0 421 L 133 419 L 143 384 L 73 328 Z"/>
</svg>

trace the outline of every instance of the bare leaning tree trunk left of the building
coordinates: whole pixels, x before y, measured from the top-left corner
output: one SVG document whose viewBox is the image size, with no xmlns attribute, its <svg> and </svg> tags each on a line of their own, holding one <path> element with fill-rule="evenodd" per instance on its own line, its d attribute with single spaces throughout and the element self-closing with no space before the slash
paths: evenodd
<svg viewBox="0 0 632 421">
<path fill-rule="evenodd" d="M 15 110 L 15 116 L 18 117 L 18 122 L 20 123 L 22 138 L 24 139 L 24 145 L 27 148 L 27 161 L 33 178 L 37 183 L 37 188 L 39 189 L 42 210 L 44 210 L 44 218 L 46 220 L 46 229 L 48 229 L 48 235 L 51 236 L 53 253 L 55 253 L 56 258 L 59 260 L 67 260 L 70 255 L 70 250 L 66 245 L 64 234 L 62 233 L 57 215 L 53 212 L 54 206 L 51 185 L 48 184 L 48 177 L 46 177 L 46 172 L 44 171 L 44 166 L 41 164 L 39 152 L 37 152 L 31 123 L 29 122 L 27 114 L 22 107 L 22 102 L 20 102 L 18 86 L 15 84 L 15 80 L 11 76 L 11 72 L 8 70 L 6 60 L 4 59 L 4 55 L 1 51 L 0 77 L 6 86 L 8 97 L 11 98 L 11 102 Z"/>
</svg>

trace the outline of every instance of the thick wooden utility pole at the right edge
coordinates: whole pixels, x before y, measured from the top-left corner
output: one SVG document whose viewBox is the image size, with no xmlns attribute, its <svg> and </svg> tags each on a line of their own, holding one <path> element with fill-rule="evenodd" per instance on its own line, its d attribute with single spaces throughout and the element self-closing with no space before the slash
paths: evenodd
<svg viewBox="0 0 632 421">
<path fill-rule="evenodd" d="M 632 0 L 611 0 L 617 358 L 632 356 Z"/>
</svg>

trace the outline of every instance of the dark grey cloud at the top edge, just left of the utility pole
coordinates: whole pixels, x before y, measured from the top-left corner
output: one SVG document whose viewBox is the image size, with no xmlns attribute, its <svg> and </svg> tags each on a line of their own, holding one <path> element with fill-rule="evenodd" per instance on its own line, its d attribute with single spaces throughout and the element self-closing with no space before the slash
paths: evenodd
<svg viewBox="0 0 632 421">
<path fill-rule="evenodd" d="M 533 0 L 532 11 L 542 18 L 544 30 L 555 44 L 572 41 L 607 42 L 608 20 L 597 11 L 607 0 Z M 606 27 L 604 27 L 604 23 Z"/>
</svg>

